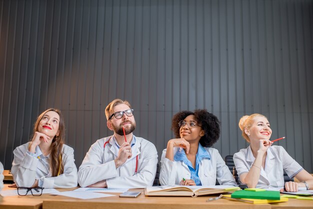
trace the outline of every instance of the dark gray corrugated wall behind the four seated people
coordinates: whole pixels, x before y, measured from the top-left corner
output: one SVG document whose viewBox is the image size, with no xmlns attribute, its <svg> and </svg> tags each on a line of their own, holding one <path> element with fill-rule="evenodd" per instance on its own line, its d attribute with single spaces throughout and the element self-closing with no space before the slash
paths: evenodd
<svg viewBox="0 0 313 209">
<path fill-rule="evenodd" d="M 0 0 L 0 161 L 56 107 L 79 166 L 118 97 L 159 155 L 179 110 L 217 115 L 222 156 L 247 146 L 240 116 L 260 112 L 312 172 L 312 28 L 311 0 Z"/>
</svg>

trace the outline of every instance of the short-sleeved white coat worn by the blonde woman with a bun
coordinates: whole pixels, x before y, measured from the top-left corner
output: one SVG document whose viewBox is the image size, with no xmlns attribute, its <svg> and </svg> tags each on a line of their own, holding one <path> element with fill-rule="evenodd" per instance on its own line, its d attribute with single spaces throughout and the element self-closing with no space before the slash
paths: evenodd
<svg viewBox="0 0 313 209">
<path fill-rule="evenodd" d="M 251 146 L 240 149 L 234 153 L 233 161 L 236 166 L 238 176 L 248 172 L 254 162 Z M 291 178 L 303 168 L 297 163 L 282 146 L 272 145 L 267 149 L 265 158 L 265 168 L 261 167 L 260 176 L 255 187 L 283 187 L 283 170 Z"/>
</svg>

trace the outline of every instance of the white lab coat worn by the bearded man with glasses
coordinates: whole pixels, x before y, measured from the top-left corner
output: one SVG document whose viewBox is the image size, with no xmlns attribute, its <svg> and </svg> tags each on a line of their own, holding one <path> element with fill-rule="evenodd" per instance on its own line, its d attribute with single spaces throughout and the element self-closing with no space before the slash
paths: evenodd
<svg viewBox="0 0 313 209">
<path fill-rule="evenodd" d="M 133 136 L 135 137 L 135 136 Z M 104 142 L 109 140 L 103 147 Z M 91 145 L 78 169 L 78 183 L 81 187 L 100 180 L 106 180 L 108 188 L 143 188 L 151 186 L 156 173 L 157 151 L 153 143 L 141 137 L 135 137 L 131 147 L 132 156 L 126 162 L 115 167 L 118 147 L 110 136 L 98 139 Z M 137 173 L 135 173 L 136 156 Z"/>
</svg>

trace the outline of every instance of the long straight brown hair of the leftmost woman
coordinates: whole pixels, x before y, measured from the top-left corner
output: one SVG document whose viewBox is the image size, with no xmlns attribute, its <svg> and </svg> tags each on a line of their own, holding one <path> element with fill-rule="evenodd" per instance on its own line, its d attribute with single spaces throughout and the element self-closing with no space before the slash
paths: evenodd
<svg viewBox="0 0 313 209">
<path fill-rule="evenodd" d="M 59 134 L 58 136 L 55 135 L 52 139 L 52 143 L 50 146 L 51 152 L 50 152 L 50 157 L 49 157 L 49 165 L 50 165 L 51 174 L 52 176 L 57 176 L 58 174 L 62 174 L 63 169 L 64 169 L 64 165 L 62 163 L 62 147 L 63 147 L 64 140 L 65 140 L 65 125 L 64 125 L 64 119 L 63 119 L 61 111 L 59 109 L 54 109 L 54 108 L 49 108 L 47 110 L 44 110 L 37 117 L 37 120 L 33 125 L 33 133 L 32 133 L 30 140 L 32 139 L 33 134 L 36 131 L 38 131 L 38 125 L 43 115 L 48 111 L 55 111 L 60 117 L 60 120 L 58 123 Z"/>
</svg>

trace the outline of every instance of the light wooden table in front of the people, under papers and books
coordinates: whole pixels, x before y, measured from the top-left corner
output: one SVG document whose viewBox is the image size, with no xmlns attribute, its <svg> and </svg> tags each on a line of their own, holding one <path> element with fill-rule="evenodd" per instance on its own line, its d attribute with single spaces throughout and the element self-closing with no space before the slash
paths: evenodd
<svg viewBox="0 0 313 209">
<path fill-rule="evenodd" d="M 5 184 L 4 189 L 8 188 Z M 71 189 L 57 189 L 60 191 Z M 164 196 L 145 196 L 143 189 L 131 189 L 142 191 L 137 198 L 119 197 L 118 193 L 112 193 L 115 196 L 94 198 L 94 199 L 77 199 L 66 196 L 54 196 L 42 194 L 41 196 L 5 196 L 0 197 L 0 208 L 33 208 L 33 209 L 62 209 L 62 208 L 122 208 L 122 209 L 236 209 L 236 208 L 260 208 L 260 209 L 308 209 L 313 208 L 313 200 L 291 199 L 287 202 L 272 204 L 249 204 L 244 202 L 230 201 L 227 199 L 218 199 L 210 202 L 205 200 L 211 196 L 198 197 L 164 197 Z"/>
</svg>

